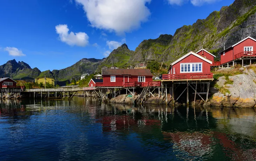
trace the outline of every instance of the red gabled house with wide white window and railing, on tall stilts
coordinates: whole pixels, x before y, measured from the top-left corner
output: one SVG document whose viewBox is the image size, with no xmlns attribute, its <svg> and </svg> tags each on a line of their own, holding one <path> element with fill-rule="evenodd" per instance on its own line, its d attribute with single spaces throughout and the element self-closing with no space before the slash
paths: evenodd
<svg viewBox="0 0 256 161">
<path fill-rule="evenodd" d="M 173 79 L 212 79 L 210 72 L 213 61 L 193 51 L 171 63 L 169 75 L 163 75 L 163 80 Z"/>
</svg>

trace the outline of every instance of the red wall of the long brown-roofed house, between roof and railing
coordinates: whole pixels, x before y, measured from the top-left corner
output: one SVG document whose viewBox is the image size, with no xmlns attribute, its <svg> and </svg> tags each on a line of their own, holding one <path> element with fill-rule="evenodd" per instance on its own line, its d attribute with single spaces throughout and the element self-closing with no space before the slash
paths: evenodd
<svg viewBox="0 0 256 161">
<path fill-rule="evenodd" d="M 145 82 L 151 82 L 153 80 L 152 76 L 145 76 Z M 124 82 L 138 82 L 138 76 L 124 76 Z M 110 82 L 110 76 L 103 76 L 103 83 L 123 83 L 123 76 L 116 76 L 115 82 Z"/>
</svg>

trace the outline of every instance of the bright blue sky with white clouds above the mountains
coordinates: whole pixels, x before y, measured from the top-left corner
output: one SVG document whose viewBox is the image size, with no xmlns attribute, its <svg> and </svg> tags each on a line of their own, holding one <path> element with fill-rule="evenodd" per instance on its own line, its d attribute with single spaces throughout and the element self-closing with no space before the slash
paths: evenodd
<svg viewBox="0 0 256 161">
<path fill-rule="evenodd" d="M 41 71 L 130 50 L 205 19 L 234 0 L 6 0 L 0 2 L 0 64 L 16 59 Z"/>
</svg>

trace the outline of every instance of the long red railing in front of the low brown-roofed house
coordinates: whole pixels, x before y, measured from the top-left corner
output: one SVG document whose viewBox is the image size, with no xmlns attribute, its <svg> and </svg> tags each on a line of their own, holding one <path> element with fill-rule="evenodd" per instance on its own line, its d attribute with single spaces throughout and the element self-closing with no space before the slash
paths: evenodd
<svg viewBox="0 0 256 161">
<path fill-rule="evenodd" d="M 124 83 L 95 83 L 96 87 L 146 87 L 161 86 L 160 81 L 153 82 L 124 82 Z"/>
</svg>

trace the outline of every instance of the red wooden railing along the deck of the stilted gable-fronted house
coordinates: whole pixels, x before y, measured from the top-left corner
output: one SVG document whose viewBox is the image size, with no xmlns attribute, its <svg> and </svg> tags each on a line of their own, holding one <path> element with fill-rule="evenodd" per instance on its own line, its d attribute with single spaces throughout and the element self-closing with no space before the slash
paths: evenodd
<svg viewBox="0 0 256 161">
<path fill-rule="evenodd" d="M 213 73 L 186 73 L 186 74 L 166 74 L 162 75 L 163 80 L 180 80 L 180 79 L 213 79 Z"/>
</svg>

